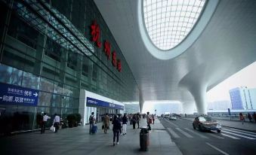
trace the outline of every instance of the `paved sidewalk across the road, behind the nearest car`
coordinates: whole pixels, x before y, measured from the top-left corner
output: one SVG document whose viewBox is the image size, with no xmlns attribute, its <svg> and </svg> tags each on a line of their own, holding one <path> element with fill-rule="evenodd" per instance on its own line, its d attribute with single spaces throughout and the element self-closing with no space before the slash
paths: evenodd
<svg viewBox="0 0 256 155">
<path fill-rule="evenodd" d="M 187 119 L 187 120 L 194 119 L 194 118 L 190 118 L 190 117 L 182 117 L 182 118 Z M 213 118 L 213 120 L 217 120 L 218 122 L 221 123 L 222 126 L 256 132 L 256 123 L 245 122 L 244 124 L 242 124 L 242 122 L 240 122 L 238 120 L 237 121 L 236 120 L 219 120 L 219 119 L 215 119 L 215 118 Z"/>
</svg>

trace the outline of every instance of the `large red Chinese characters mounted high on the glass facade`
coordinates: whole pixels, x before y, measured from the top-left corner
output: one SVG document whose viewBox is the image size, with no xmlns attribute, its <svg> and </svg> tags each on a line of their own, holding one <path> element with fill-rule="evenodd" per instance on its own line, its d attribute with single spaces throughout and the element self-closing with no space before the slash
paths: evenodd
<svg viewBox="0 0 256 155">
<path fill-rule="evenodd" d="M 101 41 L 100 41 L 100 26 L 94 22 L 91 24 L 91 40 L 94 41 L 97 45 L 97 47 L 101 47 Z M 107 59 L 110 59 L 111 55 L 111 45 L 109 41 L 104 41 L 104 53 L 106 54 Z M 115 67 L 119 72 L 122 71 L 122 65 L 121 60 L 116 58 L 116 50 L 113 50 L 112 52 L 112 65 Z"/>
</svg>

